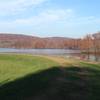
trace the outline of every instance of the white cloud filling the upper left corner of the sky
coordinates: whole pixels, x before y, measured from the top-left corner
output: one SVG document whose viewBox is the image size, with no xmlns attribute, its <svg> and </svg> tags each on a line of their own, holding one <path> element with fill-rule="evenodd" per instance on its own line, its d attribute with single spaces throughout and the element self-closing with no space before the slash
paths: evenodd
<svg viewBox="0 0 100 100">
<path fill-rule="evenodd" d="M 30 7 L 36 7 L 46 0 L 4 0 L 0 1 L 0 15 L 18 14 Z"/>
</svg>

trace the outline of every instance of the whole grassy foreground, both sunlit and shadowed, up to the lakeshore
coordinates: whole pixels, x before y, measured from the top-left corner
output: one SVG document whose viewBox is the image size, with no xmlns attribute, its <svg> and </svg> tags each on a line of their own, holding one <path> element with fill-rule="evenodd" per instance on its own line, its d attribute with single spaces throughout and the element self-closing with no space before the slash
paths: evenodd
<svg viewBox="0 0 100 100">
<path fill-rule="evenodd" d="M 100 64 L 0 54 L 0 100 L 100 100 Z"/>
</svg>

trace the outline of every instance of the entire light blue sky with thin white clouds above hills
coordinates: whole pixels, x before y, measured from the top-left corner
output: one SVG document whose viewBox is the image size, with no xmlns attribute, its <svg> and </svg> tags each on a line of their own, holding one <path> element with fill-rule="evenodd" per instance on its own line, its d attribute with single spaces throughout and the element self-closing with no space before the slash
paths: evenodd
<svg viewBox="0 0 100 100">
<path fill-rule="evenodd" d="M 0 33 L 83 37 L 100 31 L 100 0 L 0 0 Z"/>
</svg>

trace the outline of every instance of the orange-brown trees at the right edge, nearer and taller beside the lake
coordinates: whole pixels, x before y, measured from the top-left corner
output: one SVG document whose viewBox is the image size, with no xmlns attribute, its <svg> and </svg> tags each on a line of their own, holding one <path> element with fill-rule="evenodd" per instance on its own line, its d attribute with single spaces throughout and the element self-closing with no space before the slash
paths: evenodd
<svg viewBox="0 0 100 100">
<path fill-rule="evenodd" d="M 95 60 L 98 61 L 100 56 L 100 32 L 94 34 L 87 34 L 80 39 L 80 50 L 88 55 L 95 56 Z"/>
</svg>

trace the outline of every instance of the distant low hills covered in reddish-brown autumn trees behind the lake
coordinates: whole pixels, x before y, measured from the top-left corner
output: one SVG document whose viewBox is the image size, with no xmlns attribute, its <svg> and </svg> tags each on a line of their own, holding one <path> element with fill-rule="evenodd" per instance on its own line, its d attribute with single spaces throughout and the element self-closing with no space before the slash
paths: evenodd
<svg viewBox="0 0 100 100">
<path fill-rule="evenodd" d="M 72 48 L 75 39 L 65 37 L 40 38 L 18 34 L 0 34 L 0 48 Z"/>
</svg>

